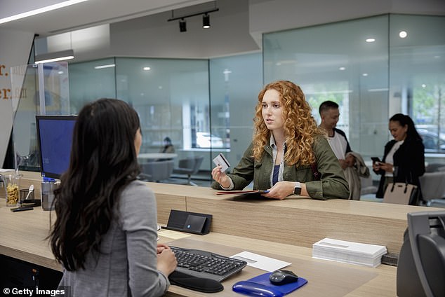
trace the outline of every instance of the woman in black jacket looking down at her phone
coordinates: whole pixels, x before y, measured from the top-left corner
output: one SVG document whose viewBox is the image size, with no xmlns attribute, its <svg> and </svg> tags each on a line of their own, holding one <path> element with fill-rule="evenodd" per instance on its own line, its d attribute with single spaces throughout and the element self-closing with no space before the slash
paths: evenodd
<svg viewBox="0 0 445 297">
<path fill-rule="evenodd" d="M 410 202 L 417 205 L 422 199 L 419 177 L 425 173 L 425 147 L 413 120 L 396 113 L 390 118 L 389 129 L 392 139 L 385 145 L 383 162 L 373 163 L 373 170 L 381 174 L 377 198 L 383 198 L 387 184 L 407 182 L 418 186 L 418 198 Z"/>
</svg>

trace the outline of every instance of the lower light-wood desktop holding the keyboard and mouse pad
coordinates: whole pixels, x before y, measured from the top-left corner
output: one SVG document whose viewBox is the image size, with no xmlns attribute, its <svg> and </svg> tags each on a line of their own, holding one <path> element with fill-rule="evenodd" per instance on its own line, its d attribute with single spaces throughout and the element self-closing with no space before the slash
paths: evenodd
<svg viewBox="0 0 445 297">
<path fill-rule="evenodd" d="M 61 270 L 55 262 L 45 237 L 48 235 L 49 215 L 36 208 L 27 212 L 11 212 L 6 203 L 0 203 L 0 254 L 36 263 L 54 270 Z M 162 234 L 162 231 L 160 235 Z M 287 267 L 308 284 L 289 296 L 395 296 L 396 268 L 380 265 L 378 268 L 365 268 L 356 265 L 313 259 L 312 250 L 290 244 L 280 244 L 248 237 L 210 233 L 190 235 L 180 240 L 161 236 L 160 242 L 180 247 L 190 247 L 215 251 L 231 256 L 240 251 L 278 258 L 292 263 Z M 237 275 L 223 282 L 225 289 L 212 296 L 240 296 L 232 291 L 232 285 L 265 273 L 257 268 L 246 267 Z M 298 294 L 297 294 L 298 293 Z M 208 296 L 208 294 L 171 286 L 166 296 Z"/>
</svg>

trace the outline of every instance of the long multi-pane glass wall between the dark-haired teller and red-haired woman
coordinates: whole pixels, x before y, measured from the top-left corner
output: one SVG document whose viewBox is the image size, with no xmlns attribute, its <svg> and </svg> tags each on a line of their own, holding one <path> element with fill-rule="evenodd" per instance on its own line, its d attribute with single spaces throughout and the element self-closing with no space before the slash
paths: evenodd
<svg viewBox="0 0 445 297">
<path fill-rule="evenodd" d="M 70 64 L 72 113 L 86 102 L 116 97 L 140 116 L 141 153 L 156 153 L 169 137 L 176 163 L 225 153 L 236 165 L 252 135 L 252 119 L 263 84 L 261 53 L 211 60 L 116 57 Z"/>
</svg>

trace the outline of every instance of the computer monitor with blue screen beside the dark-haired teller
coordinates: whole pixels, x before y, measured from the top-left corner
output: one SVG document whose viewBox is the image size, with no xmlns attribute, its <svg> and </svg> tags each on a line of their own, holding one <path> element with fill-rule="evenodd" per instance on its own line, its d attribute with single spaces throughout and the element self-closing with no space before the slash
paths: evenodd
<svg viewBox="0 0 445 297">
<path fill-rule="evenodd" d="M 68 169 L 76 119 L 77 116 L 36 116 L 42 177 L 60 179 Z"/>
</svg>

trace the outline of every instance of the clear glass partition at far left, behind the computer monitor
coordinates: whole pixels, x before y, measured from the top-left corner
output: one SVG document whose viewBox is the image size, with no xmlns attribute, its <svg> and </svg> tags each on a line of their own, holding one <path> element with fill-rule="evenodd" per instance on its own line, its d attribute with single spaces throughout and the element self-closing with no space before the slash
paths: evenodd
<svg viewBox="0 0 445 297">
<path fill-rule="evenodd" d="M 35 115 L 69 114 L 68 64 L 52 62 L 12 67 L 11 88 L 14 90 L 11 99 L 15 112 L 15 167 L 39 171 Z"/>
</svg>

